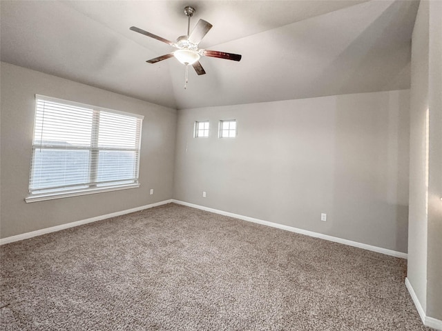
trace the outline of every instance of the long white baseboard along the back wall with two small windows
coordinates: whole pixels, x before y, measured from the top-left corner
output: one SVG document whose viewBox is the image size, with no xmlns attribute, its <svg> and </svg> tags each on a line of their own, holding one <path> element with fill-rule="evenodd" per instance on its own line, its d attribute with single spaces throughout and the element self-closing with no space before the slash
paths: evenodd
<svg viewBox="0 0 442 331">
<path fill-rule="evenodd" d="M 387 248 L 381 248 L 381 247 L 377 247 L 377 246 L 367 245 L 366 243 L 358 243 L 356 241 L 351 241 L 351 240 L 342 239 L 342 238 L 338 238 L 338 237 L 332 237 L 327 234 L 312 232 L 312 231 L 308 231 L 308 230 L 302 230 L 299 228 L 294 228 L 294 227 L 291 227 L 288 225 L 282 225 L 282 224 L 278 224 L 278 223 L 272 223 L 269 221 L 263 221 L 262 219 L 255 219 L 253 217 L 243 216 L 243 215 L 239 215 L 239 214 L 233 214 L 233 212 L 224 212 L 223 210 L 204 207 L 204 205 L 195 205 L 194 203 L 184 202 L 184 201 L 175 200 L 175 199 L 172 199 L 172 202 L 177 203 L 179 205 L 186 205 L 188 207 L 197 208 L 200 210 L 206 210 L 207 212 L 214 212 L 215 214 L 221 214 L 224 216 L 235 217 L 236 219 L 242 219 L 244 221 L 268 225 L 273 228 L 296 232 L 299 234 L 305 234 L 306 236 L 309 236 L 309 237 L 315 237 L 315 238 L 325 239 L 328 241 L 334 241 L 335 243 L 343 243 L 344 245 L 354 246 L 357 248 L 363 248 L 364 250 L 371 250 L 373 252 L 387 254 L 392 257 L 400 257 L 402 259 L 407 259 L 407 253 L 397 252 L 396 250 L 388 250 Z"/>
</svg>

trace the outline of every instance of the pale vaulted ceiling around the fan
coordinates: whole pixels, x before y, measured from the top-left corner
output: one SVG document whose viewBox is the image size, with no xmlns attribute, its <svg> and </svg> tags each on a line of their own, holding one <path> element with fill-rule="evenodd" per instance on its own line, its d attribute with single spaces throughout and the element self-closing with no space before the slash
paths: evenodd
<svg viewBox="0 0 442 331">
<path fill-rule="evenodd" d="M 176 59 L 146 60 L 191 26 L 213 28 L 201 48 L 242 54 L 202 57 L 206 74 Z M 1 61 L 171 108 L 374 92 L 410 87 L 418 1 L 1 1 Z"/>
</svg>

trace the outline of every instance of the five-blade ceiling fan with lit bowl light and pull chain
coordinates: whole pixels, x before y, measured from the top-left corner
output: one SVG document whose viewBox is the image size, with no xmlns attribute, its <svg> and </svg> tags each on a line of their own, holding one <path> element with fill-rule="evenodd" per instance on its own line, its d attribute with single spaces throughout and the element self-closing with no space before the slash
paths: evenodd
<svg viewBox="0 0 442 331">
<path fill-rule="evenodd" d="M 200 57 L 218 57 L 219 59 L 227 59 L 233 61 L 240 61 L 240 54 L 232 54 L 226 52 L 218 52 L 218 50 L 204 50 L 199 49 L 198 44 L 204 38 L 204 36 L 209 32 L 212 28 L 211 23 L 204 21 L 204 19 L 200 19 L 196 24 L 195 28 L 193 28 L 192 32 L 190 32 L 191 26 L 191 17 L 195 13 L 195 8 L 191 6 L 186 6 L 184 8 L 184 14 L 188 17 L 187 21 L 187 34 L 185 36 L 181 36 L 177 38 L 177 41 L 173 43 L 167 39 L 159 37 L 151 32 L 144 31 L 136 26 L 131 26 L 130 30 L 144 34 L 147 37 L 151 37 L 153 39 L 157 39 L 162 41 L 163 43 L 167 43 L 170 46 L 177 48 L 175 52 L 171 52 L 169 54 L 164 54 L 160 57 L 155 57 L 154 59 L 150 59 L 146 61 L 147 63 L 157 63 L 159 61 L 163 61 L 166 59 L 170 59 L 171 57 L 175 57 L 178 61 L 186 66 L 186 83 L 188 76 L 188 66 L 193 66 L 195 72 L 197 74 L 205 74 L 204 68 L 202 68 L 200 63 Z M 186 88 L 186 84 L 184 84 L 184 88 Z"/>
</svg>

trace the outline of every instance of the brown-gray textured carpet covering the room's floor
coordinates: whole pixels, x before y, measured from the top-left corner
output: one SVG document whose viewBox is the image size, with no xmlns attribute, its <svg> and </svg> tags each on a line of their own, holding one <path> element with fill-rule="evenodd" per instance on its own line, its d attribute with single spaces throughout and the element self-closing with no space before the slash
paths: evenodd
<svg viewBox="0 0 442 331">
<path fill-rule="evenodd" d="M 430 330 L 403 259 L 174 203 L 0 250 L 1 330 Z"/>
</svg>

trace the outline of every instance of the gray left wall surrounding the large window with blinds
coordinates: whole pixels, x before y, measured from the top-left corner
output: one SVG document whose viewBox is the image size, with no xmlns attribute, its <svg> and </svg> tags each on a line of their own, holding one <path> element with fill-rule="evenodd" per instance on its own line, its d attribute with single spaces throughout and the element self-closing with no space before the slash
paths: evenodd
<svg viewBox="0 0 442 331">
<path fill-rule="evenodd" d="M 144 115 L 140 188 L 25 203 L 35 94 Z M 171 108 L 1 63 L 1 237 L 171 199 L 176 116 Z"/>
</svg>

